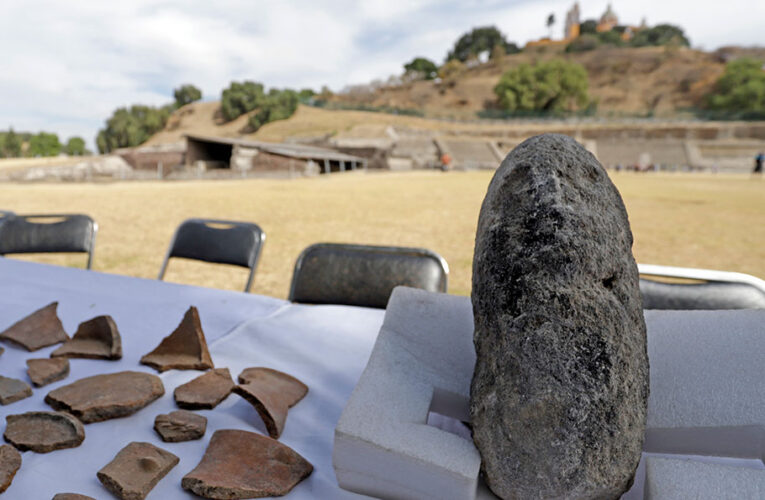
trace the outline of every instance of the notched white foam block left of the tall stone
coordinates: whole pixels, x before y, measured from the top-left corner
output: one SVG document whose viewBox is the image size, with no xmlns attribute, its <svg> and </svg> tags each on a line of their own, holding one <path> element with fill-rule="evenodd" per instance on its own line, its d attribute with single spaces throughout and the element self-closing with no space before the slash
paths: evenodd
<svg viewBox="0 0 765 500">
<path fill-rule="evenodd" d="M 335 429 L 341 487 L 382 498 L 472 499 L 481 458 L 472 441 L 427 425 L 467 420 L 475 365 L 465 297 L 399 287 L 369 363 Z"/>
</svg>

